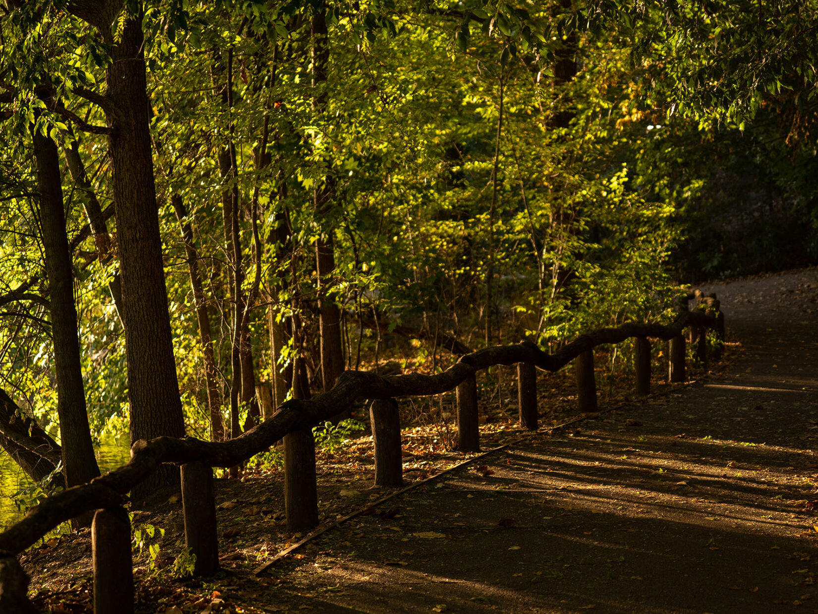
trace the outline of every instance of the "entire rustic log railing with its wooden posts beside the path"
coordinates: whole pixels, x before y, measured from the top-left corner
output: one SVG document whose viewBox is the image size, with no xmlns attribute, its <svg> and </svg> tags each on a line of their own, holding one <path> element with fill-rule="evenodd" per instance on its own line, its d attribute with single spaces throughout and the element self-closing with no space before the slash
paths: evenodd
<svg viewBox="0 0 818 614">
<path fill-rule="evenodd" d="M 16 555 L 34 545 L 62 522 L 97 510 L 92 526 L 94 558 L 94 612 L 133 612 L 131 527 L 122 507 L 123 495 L 162 463 L 181 467 L 182 505 L 187 548 L 196 554 L 194 573 L 208 576 L 218 570 L 218 537 L 213 467 L 233 467 L 285 441 L 285 513 L 289 530 L 305 530 L 318 523 L 315 444 L 312 427 L 353 407 L 373 400 L 372 435 L 375 445 L 375 484 L 402 484 L 400 419 L 395 399 L 457 391 L 459 449 L 479 451 L 476 373 L 495 365 L 517 365 L 519 419 L 537 428 L 536 368 L 555 372 L 575 360 L 578 403 L 582 412 L 596 411 L 593 349 L 597 345 L 636 340 L 636 392 L 647 394 L 650 381 L 648 338 L 669 341 L 670 381 L 685 380 L 685 327 L 703 339 L 713 328 L 724 338 L 724 318 L 715 296 L 694 293 L 697 309 L 681 310 L 668 325 L 625 323 L 579 336 L 554 354 L 531 341 L 497 345 L 461 356 L 452 367 L 435 375 L 411 373 L 381 377 L 372 372 L 344 372 L 330 390 L 309 400 L 289 400 L 271 418 L 235 439 L 224 442 L 193 438 L 158 437 L 137 441 L 123 467 L 88 484 L 54 494 L 26 512 L 25 517 L 0 533 L 0 614 L 34 612 L 26 596 L 28 576 Z M 699 341 L 704 348 L 704 342 Z M 702 358 L 699 356 L 699 358 Z"/>
</svg>

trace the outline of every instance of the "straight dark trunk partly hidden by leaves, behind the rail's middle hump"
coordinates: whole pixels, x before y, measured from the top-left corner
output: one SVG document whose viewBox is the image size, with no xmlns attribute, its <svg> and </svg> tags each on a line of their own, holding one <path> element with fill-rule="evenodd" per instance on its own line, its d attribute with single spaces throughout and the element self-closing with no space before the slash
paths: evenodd
<svg viewBox="0 0 818 614">
<path fill-rule="evenodd" d="M 317 8 L 312 16 L 312 87 L 318 88 L 326 81 L 326 68 L 330 61 L 327 44 L 326 7 Z M 326 107 L 326 94 L 314 94 L 312 108 L 317 115 Z M 331 169 L 327 170 L 330 173 Z M 324 184 L 316 187 L 313 195 L 318 223 L 330 210 L 330 199 L 335 195 L 334 181 L 328 175 Z M 324 390 L 335 385 L 344 371 L 344 342 L 341 339 L 341 315 L 338 305 L 329 296 L 335 273 L 335 245 L 332 232 L 321 234 L 315 242 L 316 268 L 318 272 L 318 309 L 321 327 L 321 380 Z"/>
</svg>

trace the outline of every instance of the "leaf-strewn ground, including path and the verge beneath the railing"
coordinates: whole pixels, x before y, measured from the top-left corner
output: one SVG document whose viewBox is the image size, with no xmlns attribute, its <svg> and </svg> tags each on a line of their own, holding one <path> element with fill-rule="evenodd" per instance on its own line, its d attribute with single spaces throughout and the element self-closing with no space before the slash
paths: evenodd
<svg viewBox="0 0 818 614">
<path fill-rule="evenodd" d="M 501 410 L 482 443 L 502 447 L 459 467 L 446 432 L 407 431 L 416 485 L 384 501 L 366 438 L 322 454 L 335 526 L 258 575 L 302 537 L 285 532 L 280 472 L 218 481 L 223 571 L 205 581 L 173 580 L 164 554 L 183 541 L 177 497 L 135 512 L 140 535 L 165 531 L 152 561 L 148 538 L 137 555 L 137 612 L 818 612 L 818 271 L 708 290 L 725 363 L 556 429 Z M 548 377 L 541 411 L 575 417 Z M 90 611 L 89 541 L 21 558 L 44 611 Z"/>
</svg>

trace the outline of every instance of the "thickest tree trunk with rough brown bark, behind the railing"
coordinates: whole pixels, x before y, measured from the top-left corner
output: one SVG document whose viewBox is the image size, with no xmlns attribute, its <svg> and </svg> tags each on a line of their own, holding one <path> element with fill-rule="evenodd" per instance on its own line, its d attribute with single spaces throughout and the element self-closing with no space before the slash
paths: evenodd
<svg viewBox="0 0 818 614">
<path fill-rule="evenodd" d="M 111 45 L 107 93 L 101 101 L 112 133 L 108 153 L 113 170 L 116 228 L 122 276 L 125 357 L 131 441 L 182 437 L 185 422 L 173 358 L 173 337 L 164 285 L 164 264 L 156 204 L 150 112 L 143 53 L 142 17 L 128 17 L 121 28 L 117 3 L 72 2 L 67 9 L 97 26 Z M 115 39 L 111 25 L 118 28 Z M 178 485 L 174 467 L 162 467 L 138 485 L 140 499 L 157 487 Z"/>
</svg>

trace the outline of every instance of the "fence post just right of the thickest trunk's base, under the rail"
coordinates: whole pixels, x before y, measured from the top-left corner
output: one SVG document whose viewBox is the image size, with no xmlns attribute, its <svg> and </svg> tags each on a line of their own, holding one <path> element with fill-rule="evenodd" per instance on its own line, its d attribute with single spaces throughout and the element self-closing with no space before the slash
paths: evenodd
<svg viewBox="0 0 818 614">
<path fill-rule="evenodd" d="M 185 517 L 185 546 L 196 555 L 194 576 L 212 576 L 218 571 L 216 498 L 213 468 L 195 461 L 185 463 L 182 476 L 182 508 Z"/>
</svg>

